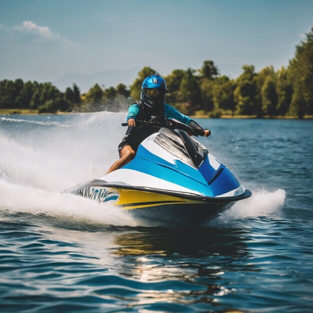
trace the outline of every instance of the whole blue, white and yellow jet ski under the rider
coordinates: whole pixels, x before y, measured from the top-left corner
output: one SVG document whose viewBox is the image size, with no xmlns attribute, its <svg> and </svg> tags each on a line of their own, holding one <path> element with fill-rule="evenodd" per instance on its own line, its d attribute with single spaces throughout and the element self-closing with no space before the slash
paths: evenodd
<svg viewBox="0 0 313 313">
<path fill-rule="evenodd" d="M 251 196 L 232 172 L 173 119 L 135 120 L 148 136 L 126 165 L 63 192 L 112 203 L 159 224 L 198 224 Z M 123 123 L 122 125 L 127 125 Z"/>
</svg>

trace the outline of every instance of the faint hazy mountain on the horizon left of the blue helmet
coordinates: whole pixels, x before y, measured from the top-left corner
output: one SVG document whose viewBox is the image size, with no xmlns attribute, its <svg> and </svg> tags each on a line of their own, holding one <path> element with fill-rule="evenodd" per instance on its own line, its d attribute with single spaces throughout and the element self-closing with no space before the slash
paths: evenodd
<svg viewBox="0 0 313 313">
<path fill-rule="evenodd" d="M 54 80 L 53 84 L 61 91 L 64 91 L 66 87 L 71 87 L 75 83 L 80 92 L 83 93 L 88 91 L 95 83 L 98 83 L 101 87 L 104 85 L 104 88 L 115 87 L 120 82 L 130 85 L 139 70 L 140 67 L 133 67 L 126 70 L 103 70 L 93 74 L 71 73 Z"/>
</svg>

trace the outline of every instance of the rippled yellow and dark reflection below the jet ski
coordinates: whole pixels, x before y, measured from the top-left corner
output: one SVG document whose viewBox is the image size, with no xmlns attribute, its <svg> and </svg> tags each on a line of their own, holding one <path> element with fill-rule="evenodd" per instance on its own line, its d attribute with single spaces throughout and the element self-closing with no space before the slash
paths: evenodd
<svg viewBox="0 0 313 313">
<path fill-rule="evenodd" d="M 164 290 L 138 294 L 136 305 L 155 302 L 214 303 L 214 295 L 234 292 L 221 284 L 225 270 L 242 269 L 247 246 L 237 229 L 141 229 L 116 235 L 123 265 L 119 274 L 141 282 L 161 282 Z M 256 270 L 253 265 L 249 270 Z M 183 282 L 183 283 L 182 283 Z"/>
</svg>

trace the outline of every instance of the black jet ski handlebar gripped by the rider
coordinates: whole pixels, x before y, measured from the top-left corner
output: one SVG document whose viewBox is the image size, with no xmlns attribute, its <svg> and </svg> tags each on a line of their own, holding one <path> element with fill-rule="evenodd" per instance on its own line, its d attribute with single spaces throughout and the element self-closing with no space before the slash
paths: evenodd
<svg viewBox="0 0 313 313">
<path fill-rule="evenodd" d="M 158 126 L 158 127 L 165 127 L 165 128 L 169 128 L 169 129 L 180 129 L 183 130 L 185 132 L 187 132 L 190 135 L 194 135 L 194 136 L 198 136 L 198 135 L 203 135 L 203 129 L 195 129 L 192 128 L 186 124 L 183 124 L 179 121 L 173 120 L 173 119 L 165 119 L 165 124 L 155 120 L 155 119 L 151 119 L 149 121 L 145 121 L 145 120 L 139 120 L 139 119 L 134 119 L 136 125 L 135 127 L 139 127 L 139 126 Z M 128 123 L 121 123 L 122 126 L 128 126 Z"/>
</svg>

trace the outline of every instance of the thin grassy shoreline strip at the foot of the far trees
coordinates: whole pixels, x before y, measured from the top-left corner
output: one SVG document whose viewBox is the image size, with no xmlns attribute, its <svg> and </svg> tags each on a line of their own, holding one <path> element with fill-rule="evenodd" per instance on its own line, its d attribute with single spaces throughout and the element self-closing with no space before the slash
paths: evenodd
<svg viewBox="0 0 313 313">
<path fill-rule="evenodd" d="M 60 112 L 55 113 L 38 113 L 37 109 L 10 109 L 0 108 L 0 115 L 67 115 L 75 113 L 93 113 L 93 112 Z M 245 118 L 259 118 L 259 119 L 313 119 L 313 115 L 304 115 L 302 118 L 297 116 L 284 116 L 284 115 L 264 115 L 256 117 L 256 115 L 230 115 L 221 114 L 219 117 L 210 117 L 209 114 L 190 115 L 191 118 L 224 118 L 224 119 L 245 119 Z"/>
</svg>

